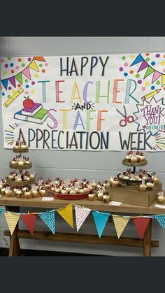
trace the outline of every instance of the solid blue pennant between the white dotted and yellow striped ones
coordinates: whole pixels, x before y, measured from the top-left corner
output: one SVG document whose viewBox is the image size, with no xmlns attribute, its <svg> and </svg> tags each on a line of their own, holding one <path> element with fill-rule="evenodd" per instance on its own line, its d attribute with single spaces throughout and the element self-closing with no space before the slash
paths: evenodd
<svg viewBox="0 0 165 293">
<path fill-rule="evenodd" d="M 99 237 L 101 237 L 101 234 L 103 233 L 103 229 L 106 226 L 106 222 L 108 221 L 110 213 L 100 213 L 97 211 L 93 211 L 92 215 L 94 217 L 94 222 L 96 224 L 96 229 L 99 234 Z"/>
</svg>

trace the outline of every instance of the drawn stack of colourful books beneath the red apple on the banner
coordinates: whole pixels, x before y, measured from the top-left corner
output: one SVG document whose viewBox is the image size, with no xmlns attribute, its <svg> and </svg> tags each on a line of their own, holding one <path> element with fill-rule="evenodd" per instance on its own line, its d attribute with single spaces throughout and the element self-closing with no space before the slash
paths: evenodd
<svg viewBox="0 0 165 293">
<path fill-rule="evenodd" d="M 34 103 L 31 108 L 23 108 L 14 114 L 14 119 L 43 124 L 48 118 L 48 110 L 41 103 Z"/>
</svg>

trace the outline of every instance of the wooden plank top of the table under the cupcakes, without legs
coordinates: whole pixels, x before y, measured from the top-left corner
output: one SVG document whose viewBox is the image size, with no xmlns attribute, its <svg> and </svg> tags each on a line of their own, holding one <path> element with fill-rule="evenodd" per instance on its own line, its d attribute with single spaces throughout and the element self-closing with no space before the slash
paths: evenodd
<svg viewBox="0 0 165 293">
<path fill-rule="evenodd" d="M 32 198 L 32 199 L 17 199 L 16 197 L 0 197 L 0 206 L 20 206 L 20 207 L 31 207 L 31 208 L 63 208 L 68 204 L 82 206 L 85 208 L 90 208 L 91 210 L 99 210 L 113 213 L 137 213 L 137 214 L 147 214 L 147 215 L 161 215 L 165 213 L 165 208 L 155 208 L 155 203 L 150 207 L 135 206 L 128 203 L 122 203 L 120 206 L 111 206 L 109 203 L 103 203 L 103 201 L 89 201 L 88 199 L 82 200 L 63 200 L 54 199 L 53 201 L 43 201 L 42 197 Z M 74 208 L 74 206 L 73 206 Z M 34 209 L 35 212 L 35 209 Z"/>
</svg>

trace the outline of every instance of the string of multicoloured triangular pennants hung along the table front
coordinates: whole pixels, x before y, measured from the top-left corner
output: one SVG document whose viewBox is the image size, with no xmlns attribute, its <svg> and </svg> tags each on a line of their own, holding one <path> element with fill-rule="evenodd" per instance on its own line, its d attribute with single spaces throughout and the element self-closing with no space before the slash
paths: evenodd
<svg viewBox="0 0 165 293">
<path fill-rule="evenodd" d="M 127 226 L 130 219 L 133 219 L 134 225 L 136 227 L 137 233 L 139 238 L 143 238 L 145 233 L 145 229 L 148 227 L 150 219 L 155 219 L 159 223 L 159 225 L 165 229 L 165 214 L 162 215 L 113 215 L 111 213 L 100 212 L 98 210 L 91 210 L 89 208 L 85 208 L 84 206 L 75 206 L 75 214 L 76 214 L 76 229 L 77 232 L 79 231 L 82 224 L 87 219 L 87 216 L 90 212 L 92 212 L 94 223 L 96 226 L 96 231 L 99 236 L 101 237 L 103 233 L 103 229 L 106 226 L 108 221 L 108 217 L 113 217 L 113 222 L 115 225 L 115 230 L 117 233 L 117 237 L 120 238 L 122 232 L 124 231 L 125 227 Z M 0 208 L 0 215 L 2 212 L 2 208 Z M 8 229 L 10 230 L 10 234 L 13 234 L 15 230 L 15 226 L 17 225 L 18 220 L 20 218 L 24 222 L 27 229 L 30 233 L 34 234 L 34 224 L 36 222 L 36 215 L 38 215 L 43 222 L 48 226 L 50 231 L 55 234 L 55 212 L 59 213 L 61 217 L 69 224 L 70 227 L 73 228 L 73 204 L 69 204 L 64 208 L 58 208 L 53 210 L 46 210 L 42 213 L 14 213 L 6 211 L 4 212 L 4 216 L 6 218 L 6 222 L 8 224 Z"/>
</svg>

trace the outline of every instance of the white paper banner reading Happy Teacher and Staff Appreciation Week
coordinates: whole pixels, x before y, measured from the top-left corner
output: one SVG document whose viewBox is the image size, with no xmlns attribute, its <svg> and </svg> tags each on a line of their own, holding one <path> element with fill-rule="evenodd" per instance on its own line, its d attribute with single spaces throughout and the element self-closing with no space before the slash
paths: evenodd
<svg viewBox="0 0 165 293">
<path fill-rule="evenodd" d="M 164 55 L 2 57 L 4 148 L 164 151 Z"/>
</svg>

